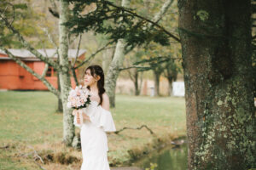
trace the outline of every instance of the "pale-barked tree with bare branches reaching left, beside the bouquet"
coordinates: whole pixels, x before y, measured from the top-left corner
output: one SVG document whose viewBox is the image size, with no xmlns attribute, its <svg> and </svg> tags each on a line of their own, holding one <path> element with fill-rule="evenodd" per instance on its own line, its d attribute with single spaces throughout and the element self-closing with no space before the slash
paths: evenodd
<svg viewBox="0 0 256 170">
<path fill-rule="evenodd" d="M 42 75 L 39 75 L 35 71 L 32 71 L 32 69 L 27 66 L 24 62 L 22 62 L 20 59 L 15 57 L 13 54 L 9 53 L 9 50 L 5 48 L 6 44 L 1 44 L 0 48 L 5 51 L 6 54 L 9 55 L 11 59 L 14 59 L 17 64 L 22 66 L 26 69 L 26 71 L 29 71 L 32 73 L 33 76 L 37 77 L 39 80 L 44 82 L 44 85 L 49 88 L 49 91 L 56 95 L 56 97 L 61 98 L 62 106 L 63 106 L 63 142 L 67 145 L 71 145 L 73 142 L 74 137 L 74 125 L 73 125 L 73 116 L 71 114 L 71 110 L 67 109 L 67 95 L 69 92 L 69 88 L 71 87 L 70 83 L 70 69 L 69 69 L 69 63 L 67 58 L 67 27 L 62 25 L 64 21 L 67 21 L 67 15 L 68 15 L 68 3 L 60 1 L 61 4 L 61 13 L 60 13 L 60 63 L 58 61 L 54 61 L 53 59 L 50 59 L 48 57 L 44 57 L 42 54 L 38 53 L 38 50 L 32 47 L 32 44 L 26 41 L 25 37 L 22 37 L 20 35 L 20 31 L 17 30 L 14 27 L 13 20 L 15 20 L 15 6 L 11 3 L 3 3 L 3 8 L 1 8 L 1 21 L 3 21 L 4 28 L 8 31 L 11 31 L 11 33 L 20 41 L 20 44 L 23 48 L 27 48 L 32 54 L 34 54 L 38 59 L 44 61 L 47 65 L 51 65 L 55 68 L 56 71 L 60 72 L 60 85 L 61 85 L 61 92 L 58 89 L 55 89 L 46 79 L 45 74 L 43 72 Z M 11 8 L 9 11 L 5 10 L 6 8 Z M 9 14 L 12 17 L 10 17 Z M 9 20 L 12 20 L 11 22 Z M 5 34 L 6 35 L 6 34 Z M 44 69 L 45 70 L 45 69 Z"/>
</svg>

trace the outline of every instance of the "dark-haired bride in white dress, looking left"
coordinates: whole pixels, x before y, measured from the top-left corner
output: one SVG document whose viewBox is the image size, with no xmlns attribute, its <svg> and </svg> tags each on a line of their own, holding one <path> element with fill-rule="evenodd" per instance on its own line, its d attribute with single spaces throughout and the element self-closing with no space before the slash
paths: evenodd
<svg viewBox="0 0 256 170">
<path fill-rule="evenodd" d="M 83 122 L 74 117 L 80 127 L 83 163 L 80 170 L 110 170 L 107 132 L 116 131 L 109 111 L 109 99 L 104 89 L 104 73 L 100 65 L 90 65 L 84 71 L 84 86 L 90 90 L 90 105 L 83 108 Z M 76 114 L 74 114 L 76 115 Z"/>
</svg>

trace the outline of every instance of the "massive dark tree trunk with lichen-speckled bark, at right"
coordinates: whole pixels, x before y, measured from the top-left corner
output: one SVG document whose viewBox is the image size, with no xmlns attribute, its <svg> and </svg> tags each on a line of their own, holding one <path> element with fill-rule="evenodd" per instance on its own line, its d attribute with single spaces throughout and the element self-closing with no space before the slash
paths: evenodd
<svg viewBox="0 0 256 170">
<path fill-rule="evenodd" d="M 189 169 L 256 167 L 250 1 L 180 0 Z"/>
</svg>

